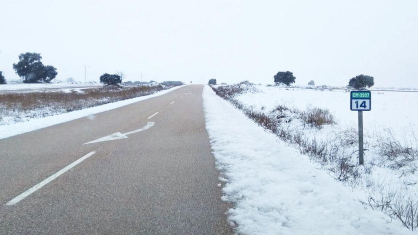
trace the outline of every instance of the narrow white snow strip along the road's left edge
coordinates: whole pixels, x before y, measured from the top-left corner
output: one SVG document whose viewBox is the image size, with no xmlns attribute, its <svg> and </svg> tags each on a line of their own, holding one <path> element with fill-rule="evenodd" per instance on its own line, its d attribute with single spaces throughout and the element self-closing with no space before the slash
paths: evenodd
<svg viewBox="0 0 418 235">
<path fill-rule="evenodd" d="M 141 100 L 145 100 L 148 98 L 160 96 L 166 94 L 170 91 L 183 87 L 184 85 L 175 86 L 169 89 L 158 91 L 154 94 L 139 96 L 131 99 L 124 99 L 117 102 L 106 103 L 99 106 L 89 107 L 85 109 L 80 109 L 76 111 L 66 112 L 58 115 L 53 116 L 46 116 L 42 118 L 32 118 L 28 121 L 18 122 L 10 125 L 0 125 L 0 139 L 11 137 L 14 135 L 26 133 L 29 131 L 45 128 L 48 126 L 56 125 L 59 123 L 64 123 L 67 121 L 71 121 L 77 118 L 85 117 L 85 116 L 92 116 L 96 113 L 108 111 L 111 109 L 115 109 L 118 107 L 122 107 L 131 103 L 135 103 Z"/>
</svg>

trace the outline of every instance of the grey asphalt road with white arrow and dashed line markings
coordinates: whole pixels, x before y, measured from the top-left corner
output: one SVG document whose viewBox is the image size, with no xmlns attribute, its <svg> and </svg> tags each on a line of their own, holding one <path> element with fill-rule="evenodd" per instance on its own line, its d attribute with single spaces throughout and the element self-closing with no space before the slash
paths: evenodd
<svg viewBox="0 0 418 235">
<path fill-rule="evenodd" d="M 0 139 L 0 234 L 231 233 L 202 89 Z"/>
</svg>

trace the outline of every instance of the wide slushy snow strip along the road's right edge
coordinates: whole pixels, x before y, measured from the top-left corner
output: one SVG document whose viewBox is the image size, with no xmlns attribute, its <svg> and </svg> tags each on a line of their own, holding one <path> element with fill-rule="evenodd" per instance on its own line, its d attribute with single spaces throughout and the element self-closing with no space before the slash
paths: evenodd
<svg viewBox="0 0 418 235">
<path fill-rule="evenodd" d="M 271 96 L 272 94 L 270 94 Z M 271 97 L 269 97 L 271 99 Z M 206 128 L 242 234 L 409 234 L 205 86 Z M 348 102 L 346 102 L 348 105 Z"/>
</svg>

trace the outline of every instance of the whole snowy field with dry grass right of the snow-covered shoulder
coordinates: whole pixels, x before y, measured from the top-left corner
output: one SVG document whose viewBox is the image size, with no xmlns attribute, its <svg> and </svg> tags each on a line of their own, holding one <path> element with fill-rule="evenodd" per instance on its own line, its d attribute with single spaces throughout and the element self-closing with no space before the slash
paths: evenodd
<svg viewBox="0 0 418 235">
<path fill-rule="evenodd" d="M 330 177 L 357 191 L 366 208 L 381 210 L 416 230 L 417 92 L 372 91 L 372 110 L 363 112 L 364 165 L 358 165 L 357 112 L 349 109 L 348 89 L 262 86 L 248 81 L 214 88 Z M 333 121 L 312 125 L 305 117 L 315 109 L 328 112 Z"/>
</svg>

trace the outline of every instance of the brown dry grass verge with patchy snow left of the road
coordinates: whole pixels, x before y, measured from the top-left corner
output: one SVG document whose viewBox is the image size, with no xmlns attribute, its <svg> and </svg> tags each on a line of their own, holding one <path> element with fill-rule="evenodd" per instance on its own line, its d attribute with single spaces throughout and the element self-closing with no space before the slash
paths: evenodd
<svg viewBox="0 0 418 235">
<path fill-rule="evenodd" d="M 153 94 L 164 89 L 155 86 L 115 86 L 83 89 L 82 92 L 0 93 L 0 125 L 9 125 Z"/>
</svg>

